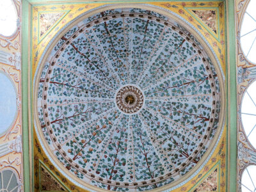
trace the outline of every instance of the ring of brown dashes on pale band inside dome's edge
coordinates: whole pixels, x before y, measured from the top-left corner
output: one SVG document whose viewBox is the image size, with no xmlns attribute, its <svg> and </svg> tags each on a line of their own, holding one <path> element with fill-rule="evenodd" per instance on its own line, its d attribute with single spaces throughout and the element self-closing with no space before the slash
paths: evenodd
<svg viewBox="0 0 256 192">
<path fill-rule="evenodd" d="M 129 15 L 130 14 L 127 14 L 127 17 L 129 17 Z M 146 14 L 140 14 L 140 13 L 138 13 L 138 14 L 135 14 L 134 13 L 134 15 L 144 15 L 144 16 L 147 16 L 147 17 L 151 17 L 151 18 L 154 18 L 154 19 L 159 19 L 159 18 L 157 18 L 157 17 L 153 17 L 153 16 L 148 16 L 148 15 L 146 15 Z M 117 16 L 117 17 L 116 17 Z M 123 15 L 123 13 L 119 13 L 119 14 L 116 14 L 115 15 L 115 19 L 118 19 L 119 17 L 121 17 L 121 18 L 123 18 L 123 17 L 125 17 L 125 15 Z M 109 17 L 112 17 L 112 15 L 109 15 Z M 149 19 L 149 18 L 148 18 Z M 94 24 L 100 24 L 101 22 L 105 22 L 106 20 L 108 20 L 108 19 L 106 19 L 106 17 L 102 17 L 102 19 L 100 19 L 100 21 L 99 21 L 99 19 L 96 19 L 96 20 L 92 20 L 92 22 L 90 22 L 90 23 L 94 23 Z M 164 22 L 164 20 L 162 19 L 161 20 L 162 22 Z M 87 26 L 89 26 L 90 25 L 90 23 L 89 24 L 87 24 Z M 166 24 L 167 25 L 167 24 Z M 50 63 L 50 65 L 51 65 L 51 67 L 49 67 L 48 68 L 48 70 L 47 70 L 47 75 L 46 75 L 46 81 L 44 81 L 44 88 L 43 88 L 43 97 L 44 97 L 44 108 L 43 108 L 43 111 L 44 111 L 44 118 L 45 118 L 45 122 L 46 122 L 46 127 L 47 127 L 47 131 L 48 131 L 48 133 L 49 133 L 49 136 L 51 137 L 51 140 L 55 140 L 54 142 L 54 144 L 56 145 L 56 147 L 57 147 L 57 150 L 60 152 L 60 154 L 61 154 L 61 156 L 67 161 L 67 162 L 70 162 L 70 164 L 71 164 L 71 166 L 74 168 L 74 169 L 76 169 L 78 172 L 81 172 L 82 174 L 86 174 L 86 175 L 88 175 L 88 177 L 93 177 L 93 179 L 94 180 L 97 180 L 98 182 L 102 182 L 102 183 L 104 183 L 104 184 L 108 184 L 108 185 L 113 185 L 113 186 L 119 186 L 119 187 L 125 187 L 125 182 L 124 182 L 124 184 L 120 184 L 120 185 L 116 185 L 115 183 L 113 183 L 113 181 L 112 180 L 108 180 L 108 179 L 102 179 L 101 177 L 97 177 L 97 176 L 95 176 L 95 174 L 92 174 L 92 173 L 89 173 L 88 174 L 88 172 L 87 172 L 87 170 L 84 170 L 83 168 L 81 168 L 81 170 L 80 170 L 80 166 L 79 165 L 77 165 L 76 163 L 74 163 L 73 164 L 73 161 L 72 161 L 72 159 L 70 159 L 70 157 L 66 157 L 65 156 L 65 151 L 63 151 L 63 152 L 61 152 L 61 144 L 60 143 L 58 143 L 58 141 L 56 140 L 56 136 L 54 136 L 54 131 L 52 131 L 52 128 L 51 128 L 51 123 L 50 123 L 50 121 L 49 121 L 49 118 L 47 118 L 47 116 L 49 116 L 49 113 L 48 113 L 48 111 L 47 111 L 47 93 L 45 93 L 45 92 L 47 92 L 47 90 L 48 90 L 48 84 L 49 84 L 49 79 L 47 79 L 48 77 L 47 76 L 51 76 L 51 73 L 52 73 L 52 68 L 54 67 L 54 65 L 55 65 L 55 63 L 56 63 L 56 60 L 59 58 L 59 56 L 61 55 L 61 52 L 62 51 L 65 51 L 65 49 L 66 49 L 66 47 L 68 46 L 68 45 L 70 45 L 70 44 L 72 44 L 72 39 L 74 38 L 74 36 L 75 37 L 77 37 L 77 36 L 79 36 L 79 34 L 81 34 L 81 33 L 83 33 L 83 31 L 84 31 L 84 28 L 87 28 L 87 26 L 85 26 L 85 24 L 83 25 L 83 26 L 81 26 L 81 29 L 79 29 L 79 30 L 77 30 L 75 33 L 73 33 L 73 35 L 71 35 L 70 36 L 70 38 L 68 38 L 67 40 L 65 40 L 65 42 L 63 43 L 63 45 L 59 48 L 59 50 L 54 54 L 54 56 L 52 56 L 52 58 L 51 58 L 51 60 L 49 61 L 49 63 Z M 89 26 L 89 27 L 91 27 L 91 25 Z M 174 26 L 172 26 L 172 27 L 174 27 Z M 179 29 L 179 28 L 178 28 Z M 174 30 L 174 29 L 173 29 Z M 180 35 L 181 36 L 183 36 L 184 38 L 186 38 L 187 40 L 188 40 L 188 36 L 185 34 L 185 33 L 182 33 L 182 31 L 180 31 L 181 29 L 179 29 L 179 33 L 180 33 Z M 176 31 L 177 32 L 177 31 Z M 193 40 L 188 40 L 188 42 L 193 42 Z M 190 43 L 191 43 L 190 42 Z M 202 53 L 200 53 L 200 48 L 195 44 L 195 42 L 193 42 L 193 45 L 195 45 L 195 47 L 197 47 L 197 51 L 198 51 L 198 54 L 200 55 L 200 56 L 202 56 L 203 54 Z M 207 63 L 206 62 L 206 60 L 205 60 L 205 58 L 204 58 L 204 56 L 202 56 L 202 59 L 203 59 L 203 62 L 204 62 L 204 65 L 206 66 L 206 67 L 208 67 L 208 69 L 207 69 L 207 71 L 209 71 L 209 74 L 211 74 L 211 76 L 213 76 L 213 74 L 212 74 L 212 71 L 210 70 L 210 67 L 209 67 L 209 65 L 207 65 L 207 64 L 209 64 L 209 63 Z M 204 61 L 205 60 L 205 61 Z M 214 79 L 213 78 L 210 78 L 210 81 L 211 81 L 211 84 L 215 84 L 215 81 L 214 81 Z M 213 88 L 213 92 L 212 92 L 212 95 L 214 95 L 214 97 L 213 97 L 213 101 L 216 101 L 214 98 L 215 98 L 215 94 L 214 93 L 216 93 L 216 86 L 214 85 L 214 86 L 212 86 Z M 45 94 L 44 94 L 45 93 Z M 214 125 L 214 119 L 215 119 L 215 115 L 216 115 L 216 104 L 214 104 L 213 106 L 212 106 L 212 111 L 215 111 L 214 113 L 213 113 L 213 115 L 212 115 L 212 113 L 211 113 L 211 120 L 210 120 L 210 124 L 209 124 L 209 128 L 207 128 L 207 132 L 205 133 L 205 135 L 209 135 L 210 134 L 210 132 L 211 132 L 211 130 L 212 130 L 212 127 L 211 127 L 211 125 Z M 49 124 L 48 124 L 49 123 Z M 195 153 L 193 153 L 193 154 L 191 154 L 191 156 L 189 156 L 189 158 L 188 159 L 190 159 L 190 160 L 187 160 L 185 163 L 182 163 L 182 164 L 180 164 L 177 168 L 175 168 L 175 170 L 173 170 L 173 172 L 171 172 L 171 174 L 170 173 L 166 173 L 165 175 L 163 175 L 163 176 L 159 176 L 159 177 L 156 177 L 156 178 L 154 178 L 154 179 L 150 179 L 150 180 L 147 180 L 147 181 L 144 181 L 144 182 L 146 182 L 146 184 L 138 184 L 138 183 L 141 183 L 141 182 L 131 182 L 131 184 L 133 184 L 133 186 L 137 186 L 137 187 L 142 187 L 142 186 L 148 186 L 148 185 L 151 185 L 151 184 L 156 184 L 157 182 L 161 182 L 161 181 L 163 181 L 163 180 L 166 180 L 166 179 L 168 179 L 168 178 L 170 178 L 170 177 L 175 177 L 175 175 L 179 175 L 179 172 L 180 171 L 182 171 L 184 168 L 186 168 L 186 166 L 189 164 L 189 163 L 191 163 L 191 161 L 193 161 L 194 159 L 195 159 L 195 157 L 198 155 L 198 153 L 200 152 L 200 150 L 205 146 L 205 145 L 207 145 L 207 143 L 209 143 L 210 141 L 209 140 L 207 140 L 207 138 L 208 137 L 204 137 L 204 139 L 203 139 L 203 141 L 202 141 L 202 143 L 200 143 L 199 145 L 198 145 L 198 147 L 196 148 L 196 150 L 195 150 Z M 196 152 L 197 151 L 197 152 Z M 191 157 L 192 157 L 192 159 L 191 159 Z M 93 176 L 92 176 L 93 175 Z M 165 177 L 165 176 L 168 176 L 168 177 Z M 101 180 L 100 180 L 101 179 Z M 103 181 L 102 181 L 103 180 Z M 106 181 L 104 181 L 104 180 L 106 180 Z M 154 181 L 155 180 L 155 181 Z M 142 183 L 144 183 L 144 182 L 142 182 Z M 116 182 L 116 183 L 119 183 L 119 182 Z M 121 183 L 123 183 L 123 182 L 121 182 Z"/>
</svg>

